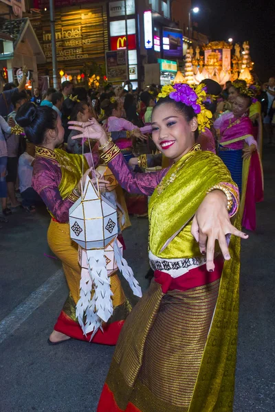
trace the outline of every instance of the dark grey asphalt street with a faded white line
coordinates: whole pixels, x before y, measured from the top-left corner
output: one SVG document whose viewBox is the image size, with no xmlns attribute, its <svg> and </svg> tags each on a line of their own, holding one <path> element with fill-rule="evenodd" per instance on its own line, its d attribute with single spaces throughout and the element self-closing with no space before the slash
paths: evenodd
<svg viewBox="0 0 275 412">
<path fill-rule="evenodd" d="M 265 201 L 257 205 L 256 233 L 242 244 L 235 412 L 275 411 L 275 148 L 264 159 Z M 113 347 L 76 340 L 47 345 L 68 292 L 47 246 L 49 221 L 42 209 L 1 223 L 0 412 L 96 412 L 113 354 Z M 124 231 L 125 256 L 143 290 L 147 235 L 141 218 Z"/>
</svg>

